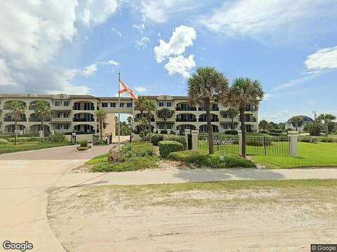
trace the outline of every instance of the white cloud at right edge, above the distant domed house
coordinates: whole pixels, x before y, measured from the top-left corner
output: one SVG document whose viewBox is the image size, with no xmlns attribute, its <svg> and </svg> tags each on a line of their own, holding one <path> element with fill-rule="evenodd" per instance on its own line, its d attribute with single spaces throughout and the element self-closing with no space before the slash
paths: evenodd
<svg viewBox="0 0 337 252">
<path fill-rule="evenodd" d="M 327 69 L 337 69 L 337 46 L 317 50 L 307 57 L 305 66 L 309 71 L 316 73 Z"/>
</svg>

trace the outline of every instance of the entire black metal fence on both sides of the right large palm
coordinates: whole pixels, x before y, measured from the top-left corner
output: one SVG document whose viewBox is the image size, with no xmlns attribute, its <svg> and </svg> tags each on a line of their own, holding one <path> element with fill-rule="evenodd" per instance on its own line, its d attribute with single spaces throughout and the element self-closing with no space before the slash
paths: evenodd
<svg viewBox="0 0 337 252">
<path fill-rule="evenodd" d="M 239 154 L 239 137 L 226 134 L 213 134 L 214 151 L 226 151 Z M 198 148 L 201 151 L 209 149 L 207 134 L 199 134 Z M 246 155 L 289 156 L 290 137 L 248 135 L 246 137 Z"/>
</svg>

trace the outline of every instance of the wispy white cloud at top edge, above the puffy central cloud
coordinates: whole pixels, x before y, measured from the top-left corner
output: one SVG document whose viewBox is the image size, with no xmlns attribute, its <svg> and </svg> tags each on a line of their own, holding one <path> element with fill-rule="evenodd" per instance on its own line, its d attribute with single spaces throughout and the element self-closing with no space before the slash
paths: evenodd
<svg viewBox="0 0 337 252">
<path fill-rule="evenodd" d="M 169 15 L 191 10 L 194 5 L 195 1 L 192 0 L 143 0 L 141 1 L 140 12 L 153 22 L 166 22 Z"/>
</svg>

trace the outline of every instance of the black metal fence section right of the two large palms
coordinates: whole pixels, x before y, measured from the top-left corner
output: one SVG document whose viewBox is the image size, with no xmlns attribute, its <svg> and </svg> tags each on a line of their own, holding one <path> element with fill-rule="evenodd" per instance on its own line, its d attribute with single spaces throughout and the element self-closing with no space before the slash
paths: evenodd
<svg viewBox="0 0 337 252">
<path fill-rule="evenodd" d="M 246 155 L 289 156 L 290 137 L 284 136 L 247 136 Z"/>
</svg>

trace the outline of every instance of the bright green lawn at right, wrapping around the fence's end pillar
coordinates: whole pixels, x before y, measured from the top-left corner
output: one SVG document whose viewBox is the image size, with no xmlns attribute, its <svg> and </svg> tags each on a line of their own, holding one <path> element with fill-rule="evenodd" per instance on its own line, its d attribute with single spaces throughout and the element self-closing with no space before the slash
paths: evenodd
<svg viewBox="0 0 337 252">
<path fill-rule="evenodd" d="M 253 156 L 253 161 L 267 168 L 337 167 L 337 144 L 298 143 L 298 157 Z"/>
</svg>

